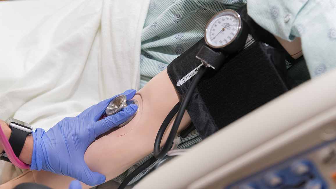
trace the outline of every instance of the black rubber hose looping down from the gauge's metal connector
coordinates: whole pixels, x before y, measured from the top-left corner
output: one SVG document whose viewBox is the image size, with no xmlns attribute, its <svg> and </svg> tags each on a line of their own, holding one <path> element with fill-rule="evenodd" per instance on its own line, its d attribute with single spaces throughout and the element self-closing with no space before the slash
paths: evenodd
<svg viewBox="0 0 336 189">
<path fill-rule="evenodd" d="M 200 67 L 200 69 L 197 71 L 197 74 L 194 76 L 193 81 L 190 83 L 190 86 L 188 87 L 187 91 L 185 92 L 184 98 L 183 98 L 183 100 L 181 102 L 181 105 L 178 109 L 174 124 L 173 124 L 173 126 L 170 130 L 167 141 L 160 151 L 160 144 L 161 144 L 162 136 L 163 136 L 163 133 L 166 130 L 166 127 L 167 127 L 167 126 L 165 126 L 164 127 L 165 129 L 160 130 L 161 127 L 163 126 L 163 123 L 162 123 L 162 125 L 159 129 L 158 135 L 156 136 L 155 143 L 154 143 L 154 156 L 157 159 L 162 159 L 166 155 L 166 153 L 169 151 L 169 149 L 171 148 L 171 144 L 174 141 L 174 138 L 176 136 L 177 129 L 178 129 L 180 123 L 181 123 L 184 111 L 186 110 L 186 108 L 187 108 L 187 106 L 190 102 L 190 99 L 191 99 L 191 97 L 194 93 L 194 90 L 197 86 L 197 83 L 200 81 L 200 79 L 204 75 L 205 71 L 206 71 L 206 67 L 202 65 Z M 172 116 L 172 117 L 174 117 L 174 116 Z M 166 117 L 164 122 L 168 125 L 172 118 L 171 119 L 167 119 L 167 118 L 168 118 L 168 116 Z"/>
</svg>

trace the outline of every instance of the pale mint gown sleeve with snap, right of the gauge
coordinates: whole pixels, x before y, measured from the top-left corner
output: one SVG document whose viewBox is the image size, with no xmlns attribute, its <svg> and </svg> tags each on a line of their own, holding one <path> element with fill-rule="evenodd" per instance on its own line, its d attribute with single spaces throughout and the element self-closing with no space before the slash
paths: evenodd
<svg viewBox="0 0 336 189">
<path fill-rule="evenodd" d="M 336 67 L 336 0 L 248 0 L 253 20 L 283 39 L 301 37 L 311 78 Z"/>
</svg>

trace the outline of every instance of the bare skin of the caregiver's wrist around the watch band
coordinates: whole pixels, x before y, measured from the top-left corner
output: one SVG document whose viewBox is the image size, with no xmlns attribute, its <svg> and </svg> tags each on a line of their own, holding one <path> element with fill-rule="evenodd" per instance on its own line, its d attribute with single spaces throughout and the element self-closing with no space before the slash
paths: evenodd
<svg viewBox="0 0 336 189">
<path fill-rule="evenodd" d="M 4 121 L 0 120 L 1 129 L 4 132 L 7 140 L 12 133 L 11 129 Z M 3 152 L 3 146 L 0 144 L 0 152 Z M 33 154 L 33 136 L 32 134 L 28 135 L 23 146 L 23 149 L 19 155 L 19 160 L 23 161 L 24 163 L 31 164 L 32 162 L 32 154 Z"/>
</svg>

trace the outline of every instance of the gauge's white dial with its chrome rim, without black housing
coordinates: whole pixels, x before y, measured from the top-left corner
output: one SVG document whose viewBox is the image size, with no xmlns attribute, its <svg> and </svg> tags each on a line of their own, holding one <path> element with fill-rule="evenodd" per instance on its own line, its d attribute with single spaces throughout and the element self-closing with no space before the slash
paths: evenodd
<svg viewBox="0 0 336 189">
<path fill-rule="evenodd" d="M 230 44 L 241 28 L 240 16 L 236 11 L 225 10 L 215 15 L 205 30 L 206 43 L 214 48 Z"/>
</svg>

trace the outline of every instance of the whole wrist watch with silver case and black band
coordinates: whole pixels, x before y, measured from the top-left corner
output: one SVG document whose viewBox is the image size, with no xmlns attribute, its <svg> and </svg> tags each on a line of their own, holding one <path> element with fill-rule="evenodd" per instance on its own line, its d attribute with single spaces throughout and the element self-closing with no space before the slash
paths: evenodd
<svg viewBox="0 0 336 189">
<path fill-rule="evenodd" d="M 7 120 L 7 124 L 9 128 L 12 130 L 12 133 L 9 138 L 9 144 L 13 149 L 13 152 L 16 157 L 19 157 L 22 148 L 26 142 L 26 138 L 29 134 L 33 132 L 32 127 L 29 125 L 29 123 L 9 118 Z M 10 162 L 8 159 L 6 153 L 0 154 L 0 160 L 5 160 Z"/>
</svg>

